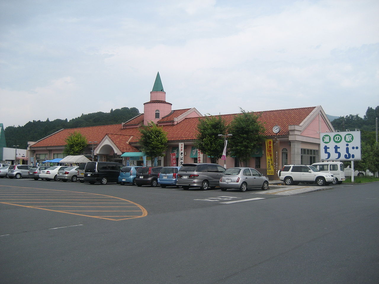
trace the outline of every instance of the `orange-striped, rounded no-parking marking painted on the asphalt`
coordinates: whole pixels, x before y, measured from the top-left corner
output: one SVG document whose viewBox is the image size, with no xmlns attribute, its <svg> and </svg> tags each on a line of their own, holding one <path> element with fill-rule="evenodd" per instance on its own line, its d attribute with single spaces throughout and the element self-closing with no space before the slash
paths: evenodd
<svg viewBox="0 0 379 284">
<path fill-rule="evenodd" d="M 0 196 L 2 195 L 1 194 L 1 189 L 4 189 L 5 187 L 7 187 L 7 190 L 9 190 L 9 187 L 11 186 L 0 186 Z M 85 197 L 89 197 L 88 195 L 95 195 L 94 197 L 96 198 L 114 198 L 114 201 L 126 201 L 126 202 L 45 202 L 45 201 L 42 201 L 42 200 L 50 200 L 50 201 L 58 201 L 58 200 L 77 200 L 77 201 L 84 201 L 83 199 L 39 199 L 39 197 L 41 197 L 41 195 L 39 194 L 34 194 L 33 196 L 35 196 L 36 198 L 32 198 L 32 196 L 29 196 L 28 199 L 25 199 L 25 198 L 22 198 L 23 196 L 20 196 L 20 198 L 17 198 L 17 196 L 12 196 L 14 197 L 15 199 L 10 199 L 10 198 L 2 198 L 1 200 L 4 200 L 4 201 L 0 201 L 0 203 L 2 204 L 9 204 L 9 205 L 15 205 L 15 206 L 21 206 L 21 207 L 25 207 L 25 208 L 34 208 L 34 209 L 41 209 L 41 210 L 47 210 L 47 211 L 53 211 L 53 212 L 60 212 L 60 213 L 66 213 L 66 214 L 73 214 L 73 215 L 80 215 L 80 216 L 85 216 L 85 217 L 92 217 L 92 218 L 99 218 L 99 219 L 105 219 L 105 220 L 112 220 L 112 221 L 120 221 L 120 220 L 127 220 L 127 219 L 134 219 L 134 218 L 141 218 L 141 217 L 145 217 L 147 216 L 147 211 L 146 209 L 133 202 L 133 201 L 130 201 L 130 200 L 126 200 L 126 199 L 123 199 L 123 198 L 119 198 L 119 197 L 114 197 L 114 196 L 110 196 L 110 195 L 103 195 L 103 194 L 97 194 L 97 193 L 89 193 L 89 192 L 73 192 L 73 191 L 69 191 L 69 190 L 58 190 L 58 189 L 39 189 L 39 188 L 28 188 L 28 187 L 13 187 L 13 189 L 15 191 L 17 190 L 24 190 L 24 189 L 32 189 L 32 190 L 37 190 L 35 193 L 40 193 L 38 190 L 43 190 L 45 192 L 45 190 L 47 190 L 47 192 L 51 192 L 52 195 L 56 196 L 54 193 L 56 194 L 62 194 L 64 195 L 65 197 L 70 197 L 70 196 L 67 196 L 68 194 L 71 194 L 71 195 L 75 195 L 75 194 L 82 194 L 84 195 Z M 12 190 L 13 190 L 12 189 Z M 32 193 L 32 192 L 29 192 L 29 193 Z M 46 194 L 46 193 L 44 193 Z M 17 195 L 13 192 L 13 195 Z M 25 194 L 20 194 L 20 195 L 25 195 Z M 29 194 L 28 194 L 29 195 Z M 3 197 L 6 197 L 6 196 L 3 196 Z M 52 196 L 49 196 L 49 197 L 52 197 Z M 78 198 L 78 196 L 72 196 L 73 198 Z M 7 201 L 5 201 L 7 200 Z M 14 200 L 14 201 L 11 201 L 11 200 Z M 41 201 L 30 201 L 30 202 L 17 202 L 17 200 L 41 200 Z M 94 199 L 88 199 L 88 201 L 97 201 L 97 200 L 94 200 Z M 99 201 L 112 201 L 112 199 L 99 199 Z M 45 204 L 45 203 L 80 203 L 80 204 L 100 204 L 100 203 L 107 203 L 107 204 L 134 204 L 135 206 L 49 206 L 49 205 L 46 205 L 46 206 L 43 206 L 43 205 L 22 205 L 20 203 L 39 203 L 39 204 Z M 53 209 L 48 209 L 48 208 L 42 208 L 42 207 L 82 207 L 82 208 L 85 208 L 85 207 L 91 207 L 91 208 L 131 208 L 131 207 L 138 207 L 139 210 L 130 210 L 130 211 L 124 211 L 124 210 L 112 210 L 112 211 L 88 211 L 88 210 L 68 210 L 68 211 L 62 211 L 62 210 L 53 210 Z M 69 212 L 70 211 L 70 212 Z M 79 213 L 73 213 L 73 212 L 140 212 L 141 215 L 114 215 L 114 216 L 92 216 L 92 215 L 85 215 L 85 214 L 79 214 Z M 113 218 L 112 218 L 113 217 Z"/>
</svg>

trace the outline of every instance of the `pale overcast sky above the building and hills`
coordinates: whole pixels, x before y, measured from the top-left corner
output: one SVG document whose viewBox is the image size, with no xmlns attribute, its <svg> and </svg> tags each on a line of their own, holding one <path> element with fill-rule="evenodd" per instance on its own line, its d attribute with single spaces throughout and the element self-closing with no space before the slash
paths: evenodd
<svg viewBox="0 0 379 284">
<path fill-rule="evenodd" d="M 2 0 L 0 123 L 138 108 L 379 105 L 379 1 Z"/>
</svg>

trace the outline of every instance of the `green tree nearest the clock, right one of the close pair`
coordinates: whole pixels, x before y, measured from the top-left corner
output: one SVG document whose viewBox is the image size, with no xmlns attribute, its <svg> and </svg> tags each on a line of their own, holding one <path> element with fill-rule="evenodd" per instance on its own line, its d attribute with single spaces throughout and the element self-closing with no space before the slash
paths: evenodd
<svg viewBox="0 0 379 284">
<path fill-rule="evenodd" d="M 246 112 L 240 108 L 241 114 L 234 117 L 229 125 L 229 133 L 233 136 L 229 139 L 228 148 L 231 156 L 238 157 L 247 165 L 251 153 L 261 145 L 265 139 L 265 127 L 258 121 L 260 115 L 254 112 Z"/>
</svg>

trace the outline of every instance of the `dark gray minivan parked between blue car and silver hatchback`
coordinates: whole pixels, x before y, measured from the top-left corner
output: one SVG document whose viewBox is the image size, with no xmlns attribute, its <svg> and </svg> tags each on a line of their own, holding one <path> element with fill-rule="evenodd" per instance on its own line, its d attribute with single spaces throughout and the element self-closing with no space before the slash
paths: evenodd
<svg viewBox="0 0 379 284">
<path fill-rule="evenodd" d="M 183 189 L 200 187 L 201 190 L 215 188 L 219 185 L 220 178 L 225 168 L 218 164 L 193 163 L 183 164 L 177 175 L 177 186 Z"/>
</svg>

